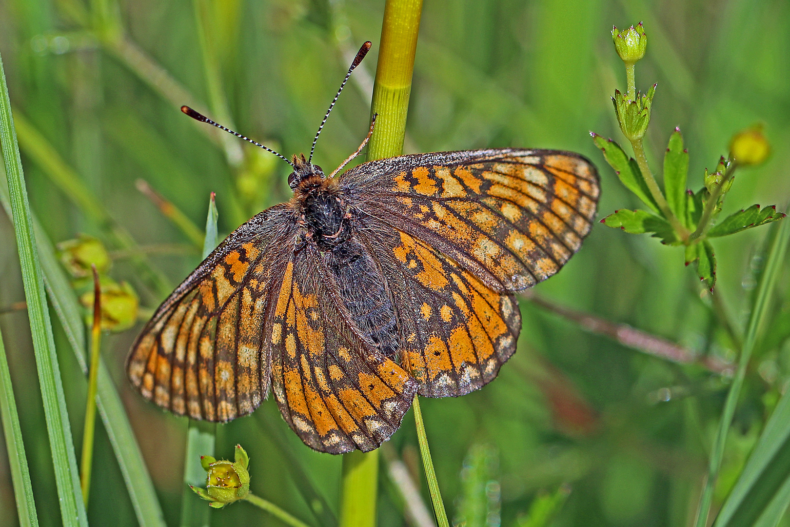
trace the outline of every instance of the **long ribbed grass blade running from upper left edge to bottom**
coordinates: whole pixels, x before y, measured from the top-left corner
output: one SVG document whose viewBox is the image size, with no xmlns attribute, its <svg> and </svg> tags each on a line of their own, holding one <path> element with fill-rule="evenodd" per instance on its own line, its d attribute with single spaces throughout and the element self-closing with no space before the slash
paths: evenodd
<svg viewBox="0 0 790 527">
<path fill-rule="evenodd" d="M 17 236 L 17 250 L 22 269 L 24 295 L 28 302 L 28 318 L 36 355 L 44 417 L 50 442 L 55 483 L 63 525 L 85 525 L 85 506 L 82 503 L 80 480 L 77 476 L 77 457 L 71 439 L 66 397 L 60 379 L 55 338 L 47 310 L 47 293 L 43 287 L 43 273 L 36 251 L 28 194 L 24 186 L 22 162 L 17 137 L 13 130 L 11 101 L 6 87 L 6 73 L 0 58 L 0 143 L 6 166 L 9 198 L 13 213 L 13 229 Z"/>
</svg>

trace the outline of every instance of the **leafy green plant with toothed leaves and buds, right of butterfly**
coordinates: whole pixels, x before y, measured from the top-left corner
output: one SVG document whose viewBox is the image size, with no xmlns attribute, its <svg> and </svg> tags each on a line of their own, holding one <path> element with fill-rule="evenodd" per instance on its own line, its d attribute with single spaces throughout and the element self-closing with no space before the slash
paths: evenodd
<svg viewBox="0 0 790 527">
<path fill-rule="evenodd" d="M 621 228 L 632 234 L 653 233 L 661 243 L 686 248 L 686 265 L 694 263 L 698 276 L 713 291 L 716 284 L 716 257 L 709 239 L 735 234 L 758 227 L 785 215 L 776 205 L 760 208 L 751 205 L 718 220 L 724 196 L 732 188 L 735 168 L 762 163 L 768 155 L 768 144 L 759 129 L 750 129 L 733 137 L 728 158 L 722 156 L 713 172 L 705 171 L 704 186 L 696 193 L 687 190 L 689 155 L 683 148 L 680 129 L 669 137 L 664 154 L 664 190 L 653 177 L 642 143 L 650 123 L 650 111 L 656 85 L 646 93 L 637 92 L 635 65 L 645 56 L 647 35 L 640 22 L 623 31 L 613 27 L 611 36 L 615 49 L 626 66 L 626 93 L 615 90 L 611 98 L 620 130 L 634 150 L 634 157 L 626 154 L 611 139 L 591 132 L 592 141 L 604 152 L 604 159 L 615 169 L 623 185 L 649 210 L 619 209 L 606 216 L 601 223 Z"/>
</svg>

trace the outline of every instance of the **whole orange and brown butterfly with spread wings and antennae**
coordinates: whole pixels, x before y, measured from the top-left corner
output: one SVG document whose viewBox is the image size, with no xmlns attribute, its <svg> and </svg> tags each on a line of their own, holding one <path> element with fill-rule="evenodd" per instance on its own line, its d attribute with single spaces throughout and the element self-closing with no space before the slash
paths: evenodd
<svg viewBox="0 0 790 527">
<path fill-rule="evenodd" d="M 127 371 L 178 415 L 229 421 L 271 390 L 308 446 L 373 450 L 416 394 L 455 397 L 496 377 L 521 329 L 513 294 L 579 249 L 598 175 L 572 152 L 487 149 L 335 177 L 354 155 L 325 176 L 313 149 L 292 160 L 267 149 L 292 164 L 293 198 L 237 228 L 175 289 Z"/>
</svg>

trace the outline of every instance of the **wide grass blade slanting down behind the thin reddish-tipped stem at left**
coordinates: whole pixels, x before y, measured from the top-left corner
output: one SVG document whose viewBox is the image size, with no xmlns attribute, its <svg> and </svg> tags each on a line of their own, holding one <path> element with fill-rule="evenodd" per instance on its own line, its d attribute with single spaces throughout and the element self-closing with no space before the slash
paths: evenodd
<svg viewBox="0 0 790 527">
<path fill-rule="evenodd" d="M 0 166 L 0 170 L 2 170 L 2 166 Z M 0 204 L 11 216 L 8 190 L 2 183 L 0 183 Z M 66 338 L 71 344 L 74 356 L 77 357 L 82 371 L 87 374 L 88 363 L 85 358 L 85 326 L 81 318 L 82 307 L 77 302 L 77 296 L 71 288 L 66 273 L 55 257 L 55 248 L 50 239 L 47 238 L 41 224 L 36 220 L 36 216 L 32 215 L 31 217 L 47 294 L 63 331 L 66 333 Z M 145 467 L 140 447 L 134 438 L 134 431 L 126 416 L 126 410 L 118 391 L 115 389 L 110 371 L 107 370 L 107 366 L 101 358 L 96 393 L 104 429 L 107 431 L 115 458 L 118 460 L 138 523 L 141 527 L 164 527 L 164 516 L 151 476 Z"/>
</svg>

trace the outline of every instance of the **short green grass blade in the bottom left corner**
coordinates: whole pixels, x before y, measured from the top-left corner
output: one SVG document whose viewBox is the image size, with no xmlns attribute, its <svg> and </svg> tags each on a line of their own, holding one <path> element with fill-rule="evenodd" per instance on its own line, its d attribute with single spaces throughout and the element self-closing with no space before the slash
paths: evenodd
<svg viewBox="0 0 790 527">
<path fill-rule="evenodd" d="M 6 359 L 6 348 L 0 333 L 0 418 L 6 438 L 9 469 L 13 484 L 13 495 L 17 501 L 17 515 L 20 527 L 38 527 L 36 502 L 33 500 L 33 487 L 30 484 L 28 458 L 24 455 L 22 429 L 19 426 L 17 401 L 13 396 L 11 373 Z"/>
</svg>

